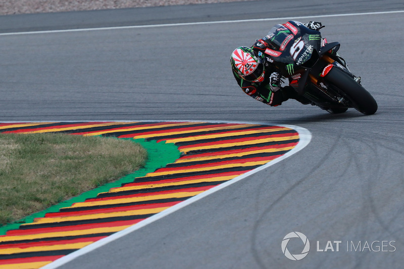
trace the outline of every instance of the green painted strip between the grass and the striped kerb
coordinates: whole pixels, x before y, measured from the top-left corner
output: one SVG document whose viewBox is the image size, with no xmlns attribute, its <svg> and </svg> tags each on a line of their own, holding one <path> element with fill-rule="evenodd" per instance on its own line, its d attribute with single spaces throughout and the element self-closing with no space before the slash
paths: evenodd
<svg viewBox="0 0 404 269">
<path fill-rule="evenodd" d="M 94 198 L 100 192 L 107 192 L 111 188 L 120 187 L 122 184 L 133 182 L 137 177 L 144 177 L 147 173 L 156 171 L 159 168 L 166 167 L 167 164 L 174 163 L 176 159 L 180 157 L 180 152 L 178 147 L 173 143 L 165 143 L 164 141 L 157 143 L 153 141 L 145 141 L 144 139 L 132 139 L 132 138 L 122 138 L 132 140 L 136 143 L 141 144 L 147 150 L 147 161 L 143 168 L 122 177 L 114 182 L 107 183 L 103 186 L 97 187 L 93 190 L 84 192 L 76 197 L 73 197 L 64 202 L 55 204 L 45 210 L 36 212 L 24 219 L 21 219 L 15 223 L 8 224 L 0 227 L 0 235 L 5 235 L 9 230 L 15 230 L 20 227 L 21 224 L 32 223 L 35 218 L 43 218 L 48 212 L 58 212 L 62 207 L 71 206 L 73 203 L 83 202 L 87 198 Z"/>
</svg>

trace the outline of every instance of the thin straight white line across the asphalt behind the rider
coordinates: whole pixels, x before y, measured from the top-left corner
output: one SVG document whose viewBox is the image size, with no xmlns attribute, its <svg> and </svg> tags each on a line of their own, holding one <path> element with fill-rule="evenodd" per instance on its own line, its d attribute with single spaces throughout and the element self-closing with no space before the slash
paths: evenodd
<svg viewBox="0 0 404 269">
<path fill-rule="evenodd" d="M 244 23 L 244 22 L 262 22 L 262 21 L 285 21 L 285 20 L 291 20 L 291 19 L 297 20 L 297 19 L 313 19 L 313 18 L 329 18 L 329 17 L 345 17 L 345 16 L 363 16 L 363 15 L 393 14 L 393 13 L 403 13 L 403 12 L 404 12 L 404 10 L 398 10 L 398 11 L 384 11 L 384 12 L 331 14 L 331 15 L 317 15 L 317 16 L 300 16 L 300 17 L 283 17 L 283 18 L 268 18 L 268 19 L 234 20 L 234 21 L 213 21 L 213 22 L 190 22 L 190 23 L 154 24 L 154 25 L 133 25 L 133 26 L 119 26 L 119 27 L 99 27 L 99 28 L 84 28 L 84 29 L 67 29 L 67 30 L 49 30 L 49 31 L 0 33 L 0 35 L 24 35 L 24 34 L 83 32 L 83 31 L 99 31 L 99 30 L 132 29 L 132 28 L 150 28 L 150 27 L 167 27 L 167 26 L 183 26 L 183 25 L 199 25 L 199 24 L 217 24 L 217 23 Z"/>
</svg>

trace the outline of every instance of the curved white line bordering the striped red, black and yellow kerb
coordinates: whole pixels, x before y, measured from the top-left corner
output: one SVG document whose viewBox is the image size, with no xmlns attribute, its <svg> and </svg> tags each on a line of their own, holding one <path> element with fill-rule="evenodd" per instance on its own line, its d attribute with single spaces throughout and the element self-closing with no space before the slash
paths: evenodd
<svg viewBox="0 0 404 269">
<path fill-rule="evenodd" d="M 183 122 L 183 121 L 181 121 L 181 122 Z M 195 121 L 189 121 L 189 122 L 195 122 Z M 198 122 L 203 122 L 203 121 L 198 121 Z M 207 122 L 215 123 L 216 121 L 207 121 Z M 222 122 L 222 121 L 220 121 L 220 123 L 240 123 L 240 122 Z M 243 122 L 243 123 L 247 124 L 245 122 Z M 108 243 L 110 243 L 110 242 L 112 242 L 112 241 L 114 241 L 116 239 L 119 239 L 119 238 L 133 232 L 133 231 L 136 231 L 136 230 L 138 230 L 138 229 L 140 229 L 140 228 L 142 228 L 142 227 L 144 227 L 144 226 L 146 226 L 146 225 L 148 225 L 150 223 L 153 223 L 153 222 L 155 222 L 157 220 L 160 220 L 160 219 L 166 217 L 168 214 L 171 214 L 171 213 L 173 213 L 173 212 L 175 212 L 175 211 L 177 211 L 177 210 L 179 210 L 179 209 L 181 209 L 181 208 L 183 208 L 183 207 L 185 207 L 185 206 L 187 206 L 187 205 L 189 205 L 189 204 L 191 204 L 191 203 L 193 203 L 193 202 L 195 202 L 197 200 L 205 198 L 206 196 L 208 196 L 208 195 L 210 195 L 210 194 L 212 194 L 214 192 L 217 192 L 217 191 L 219 191 L 219 190 L 221 190 L 221 189 L 223 189 L 223 188 L 225 188 L 225 187 L 227 187 L 227 186 L 229 186 L 229 185 L 231 185 L 233 183 L 236 183 L 236 182 L 238 182 L 238 181 L 240 181 L 240 180 L 242 180 L 242 179 L 244 179 L 244 178 L 246 178 L 246 177 L 248 177 L 248 176 L 250 176 L 252 174 L 255 174 L 255 173 L 257 173 L 257 172 L 259 172 L 261 170 L 267 169 L 268 167 L 279 163 L 281 160 L 293 155 L 294 153 L 298 152 L 302 148 L 306 147 L 310 143 L 310 141 L 312 139 L 312 134 L 310 133 L 310 131 L 305 129 L 305 128 L 299 127 L 299 126 L 279 125 L 279 124 L 269 124 L 269 123 L 249 123 L 249 124 L 262 124 L 262 125 L 269 125 L 269 126 L 275 125 L 275 126 L 294 129 L 299 134 L 299 137 L 300 137 L 299 142 L 297 143 L 297 145 L 293 149 L 286 152 L 281 157 L 276 158 L 276 159 L 272 160 L 271 162 L 269 162 L 269 163 L 267 163 L 267 164 L 265 164 L 263 166 L 260 166 L 260 167 L 254 169 L 254 170 L 251 170 L 251 171 L 249 171 L 249 172 L 247 172 L 247 173 L 245 173 L 245 174 L 243 174 L 241 176 L 235 177 L 232 180 L 226 181 L 225 183 L 222 183 L 222 184 L 220 184 L 220 185 L 218 185 L 216 187 L 213 187 L 212 189 L 204 191 L 203 193 L 200 193 L 200 194 L 195 195 L 195 196 L 193 196 L 191 198 L 188 198 L 188 199 L 184 200 L 183 202 L 180 202 L 180 203 L 178 203 L 178 204 L 176 204 L 174 206 L 171 206 L 171 207 L 167 208 L 164 211 L 161 211 L 160 213 L 154 214 L 153 216 L 145 219 L 144 221 L 141 221 L 141 222 L 139 222 L 137 224 L 134 224 L 133 226 L 128 227 L 128 228 L 126 228 L 126 229 L 124 229 L 122 231 L 116 232 L 115 234 L 112 234 L 109 237 L 100 239 L 100 240 L 98 240 L 98 241 L 96 241 L 96 242 L 94 242 L 94 243 L 92 243 L 90 245 L 87 245 L 87 246 L 85 246 L 85 247 L 83 247 L 83 248 L 81 248 L 79 250 L 76 250 L 76 251 L 74 251 L 74 252 L 72 252 L 72 253 L 70 253 L 70 254 L 68 254 L 68 255 L 60 258 L 60 259 L 57 259 L 54 262 L 49 263 L 49 264 L 47 264 L 47 265 L 45 265 L 45 266 L 43 266 L 41 268 L 42 269 L 57 268 L 57 267 L 65 264 L 65 263 L 67 263 L 67 262 L 69 262 L 71 260 L 74 260 L 75 258 L 77 258 L 77 257 L 79 257 L 81 255 L 84 255 L 84 254 L 86 254 L 86 253 L 88 253 L 90 251 L 93 251 L 93 250 L 95 250 L 95 249 L 97 249 L 99 247 L 102 247 L 102 246 L 104 246 L 104 245 L 106 245 L 106 244 L 108 244 Z"/>
</svg>

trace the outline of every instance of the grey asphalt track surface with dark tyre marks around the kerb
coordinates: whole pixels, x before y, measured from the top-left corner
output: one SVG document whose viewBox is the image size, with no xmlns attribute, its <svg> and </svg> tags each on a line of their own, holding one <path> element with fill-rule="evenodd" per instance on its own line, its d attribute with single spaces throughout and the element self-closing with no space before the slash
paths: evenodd
<svg viewBox="0 0 404 269">
<path fill-rule="evenodd" d="M 139 25 L 143 17 L 149 25 L 282 18 L 0 35 L 0 121 L 259 122 L 301 126 L 313 136 L 282 162 L 61 268 L 402 267 L 403 13 L 383 12 L 402 11 L 404 5 L 307 3 L 63 13 L 60 20 L 56 14 L 0 17 L 3 33 Z M 380 14 L 313 17 L 364 12 Z M 252 44 L 286 17 L 326 25 L 323 36 L 341 43 L 351 71 L 377 100 L 375 115 L 331 115 L 294 100 L 269 107 L 237 88 L 229 67 L 232 50 Z M 299 261 L 288 260 L 281 249 L 293 231 L 311 243 Z M 327 241 L 341 241 L 339 251 L 336 243 L 334 252 L 317 251 Z M 373 250 L 378 245 L 380 251 L 364 248 L 375 241 Z M 361 242 L 363 251 L 347 251 L 346 242 Z M 288 249 L 298 253 L 302 246 L 290 241 Z"/>
</svg>

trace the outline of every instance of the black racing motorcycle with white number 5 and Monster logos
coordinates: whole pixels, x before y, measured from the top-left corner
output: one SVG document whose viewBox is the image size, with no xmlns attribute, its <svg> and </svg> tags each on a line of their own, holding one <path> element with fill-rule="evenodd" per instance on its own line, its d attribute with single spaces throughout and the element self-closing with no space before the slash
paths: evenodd
<svg viewBox="0 0 404 269">
<path fill-rule="evenodd" d="M 268 38 L 268 39 L 267 39 Z M 377 102 L 353 75 L 337 51 L 339 42 L 327 43 L 321 33 L 297 21 L 277 24 L 266 36 L 267 60 L 282 77 L 298 80 L 296 91 L 329 113 L 353 107 L 365 115 L 377 111 Z"/>
</svg>

